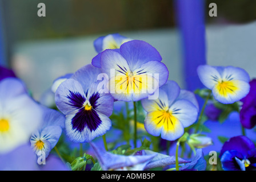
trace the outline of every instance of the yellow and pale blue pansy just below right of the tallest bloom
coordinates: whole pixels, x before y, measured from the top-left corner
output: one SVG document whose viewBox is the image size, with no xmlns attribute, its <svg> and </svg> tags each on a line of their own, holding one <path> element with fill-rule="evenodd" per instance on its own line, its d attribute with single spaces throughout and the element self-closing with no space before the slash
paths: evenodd
<svg viewBox="0 0 256 182">
<path fill-rule="evenodd" d="M 153 136 L 175 140 L 192 125 L 198 116 L 199 106 L 194 93 L 181 90 L 175 81 L 167 81 L 159 88 L 157 100 L 142 100 L 147 111 L 145 129 Z"/>
</svg>

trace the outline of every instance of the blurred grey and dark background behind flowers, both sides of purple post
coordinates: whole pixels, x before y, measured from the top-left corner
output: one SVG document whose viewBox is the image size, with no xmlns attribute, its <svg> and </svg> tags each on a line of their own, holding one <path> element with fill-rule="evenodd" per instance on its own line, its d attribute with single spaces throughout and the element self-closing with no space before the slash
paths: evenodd
<svg viewBox="0 0 256 182">
<path fill-rule="evenodd" d="M 179 0 L 178 0 L 179 1 Z M 38 17 L 38 3 L 46 17 Z M 218 16 L 209 16 L 216 3 Z M 256 77 L 256 1 L 205 1 L 206 62 Z M 55 78 L 91 63 L 98 36 L 119 32 L 158 49 L 170 80 L 186 87 L 177 9 L 171 0 L 0 0 L 3 56 L 38 100 Z"/>
</svg>

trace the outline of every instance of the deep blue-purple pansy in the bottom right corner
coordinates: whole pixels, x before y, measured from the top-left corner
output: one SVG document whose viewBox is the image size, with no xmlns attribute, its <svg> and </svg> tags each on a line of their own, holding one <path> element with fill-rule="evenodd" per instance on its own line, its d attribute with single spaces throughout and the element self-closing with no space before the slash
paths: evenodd
<svg viewBox="0 0 256 182">
<path fill-rule="evenodd" d="M 256 169 L 256 149 L 245 136 L 230 138 L 223 144 L 221 154 L 222 168 L 225 171 L 254 171 Z"/>
</svg>

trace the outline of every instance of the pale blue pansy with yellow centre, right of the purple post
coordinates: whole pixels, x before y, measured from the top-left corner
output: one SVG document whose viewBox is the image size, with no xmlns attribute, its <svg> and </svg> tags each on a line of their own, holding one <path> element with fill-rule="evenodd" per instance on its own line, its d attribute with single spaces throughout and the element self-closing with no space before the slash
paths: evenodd
<svg viewBox="0 0 256 182">
<path fill-rule="evenodd" d="M 237 102 L 249 93 L 250 76 L 242 68 L 200 65 L 197 72 L 203 85 L 212 90 L 215 100 L 223 104 Z"/>
</svg>

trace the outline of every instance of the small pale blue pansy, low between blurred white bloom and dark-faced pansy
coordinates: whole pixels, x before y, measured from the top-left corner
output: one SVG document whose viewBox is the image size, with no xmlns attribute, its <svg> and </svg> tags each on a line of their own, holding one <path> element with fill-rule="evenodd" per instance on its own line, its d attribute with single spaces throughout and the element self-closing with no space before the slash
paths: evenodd
<svg viewBox="0 0 256 182">
<path fill-rule="evenodd" d="M 65 117 L 57 110 L 43 108 L 43 117 L 41 126 L 34 131 L 30 138 L 31 148 L 38 154 L 39 151 L 45 152 L 45 156 L 57 144 L 64 128 Z"/>
</svg>

